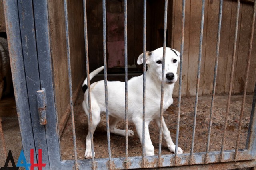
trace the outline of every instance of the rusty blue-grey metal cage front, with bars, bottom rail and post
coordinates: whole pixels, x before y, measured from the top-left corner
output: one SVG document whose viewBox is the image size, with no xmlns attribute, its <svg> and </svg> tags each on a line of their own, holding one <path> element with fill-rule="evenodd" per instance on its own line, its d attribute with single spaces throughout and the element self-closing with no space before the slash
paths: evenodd
<svg viewBox="0 0 256 170">
<path fill-rule="evenodd" d="M 198 56 L 198 74 L 196 83 L 196 98 L 194 107 L 194 124 L 193 135 L 190 153 L 177 154 L 178 139 L 179 139 L 179 123 L 180 123 L 180 105 L 181 105 L 181 84 L 182 78 L 179 79 L 179 97 L 178 97 L 178 116 L 176 126 L 176 149 L 175 154 L 162 155 L 161 143 L 162 143 L 162 126 L 159 129 L 159 152 L 156 156 L 145 156 L 145 72 L 146 64 L 143 64 L 143 144 L 142 144 L 142 156 L 129 157 L 128 155 L 128 64 L 127 64 L 127 0 L 124 0 L 124 40 L 125 40 L 125 123 L 126 123 L 126 154 L 124 158 L 112 158 L 110 150 L 110 130 L 108 122 L 108 86 L 107 86 L 107 65 L 106 65 L 106 0 L 103 0 L 103 49 L 104 49 L 104 81 L 105 81 L 105 101 L 106 101 L 106 126 L 108 136 L 108 158 L 95 159 L 93 136 L 91 135 L 92 143 L 92 159 L 91 160 L 78 160 L 76 151 L 76 132 L 74 121 L 74 99 L 72 92 L 72 72 L 70 64 L 70 43 L 69 43 L 69 30 L 68 30 L 68 11 L 67 0 L 64 0 L 64 12 L 65 12 L 65 24 L 66 24 L 66 44 L 67 44 L 67 57 L 68 57 L 68 77 L 69 77 L 69 90 L 70 90 L 70 104 L 71 104 L 71 116 L 72 116 L 72 129 L 73 129 L 73 141 L 74 141 L 74 160 L 62 160 L 60 156 L 60 139 L 58 133 L 58 122 L 54 96 L 54 82 L 52 71 L 52 60 L 50 53 L 50 28 L 48 20 L 48 2 L 47 0 L 4 0 L 4 12 L 6 16 L 6 30 L 8 35 L 8 45 L 10 51 L 12 76 L 14 80 L 14 92 L 16 98 L 17 112 L 19 116 L 20 131 L 22 136 L 22 146 L 26 158 L 29 158 L 30 152 L 28 150 L 34 149 L 34 155 L 38 155 L 37 150 L 43 149 L 44 155 L 42 160 L 46 163 L 46 169 L 135 169 L 135 168 L 160 168 L 160 167 L 176 167 L 176 169 L 191 168 L 193 165 L 195 168 L 209 168 L 217 169 L 222 168 L 240 168 L 240 167 L 252 167 L 256 166 L 256 121 L 255 121 L 255 103 L 256 103 L 256 85 L 254 90 L 253 104 L 250 117 L 250 125 L 248 130 L 248 138 L 246 141 L 246 149 L 238 149 L 241 120 L 244 112 L 244 102 L 246 96 L 246 88 L 248 84 L 248 72 L 250 59 L 252 57 L 252 40 L 254 35 L 254 23 L 256 14 L 256 2 L 254 1 L 253 19 L 251 25 L 250 34 L 250 46 L 249 54 L 247 58 L 246 78 L 244 83 L 244 93 L 242 98 L 242 109 L 240 113 L 240 121 L 238 125 L 236 148 L 234 150 L 225 150 L 224 141 L 226 136 L 228 114 L 230 108 L 230 98 L 232 92 L 232 83 L 229 86 L 228 102 L 225 115 L 225 124 L 222 137 L 222 147 L 220 151 L 209 151 L 210 134 L 212 127 L 212 115 L 214 110 L 214 96 L 216 87 L 216 76 L 218 68 L 219 57 L 219 45 L 220 45 L 220 30 L 222 20 L 222 2 L 220 0 L 219 5 L 219 19 L 218 19 L 218 35 L 216 45 L 216 59 L 214 68 L 214 81 L 212 88 L 212 102 L 210 107 L 210 122 L 208 127 L 208 141 L 206 152 L 196 153 L 194 152 L 194 139 L 196 129 L 196 113 L 198 103 L 198 90 L 200 82 L 200 66 L 202 56 L 202 38 L 204 29 L 204 5 L 205 0 L 202 0 L 202 13 L 201 13 L 201 29 L 200 29 L 200 44 L 199 44 L 199 56 Z M 167 25 L 167 3 L 165 0 L 164 11 L 164 54 L 166 48 L 166 25 Z M 85 49 L 86 49 L 86 72 L 87 78 L 89 77 L 89 59 L 88 59 L 88 32 L 87 32 L 87 16 L 86 16 L 86 0 L 84 0 L 84 35 L 85 35 Z M 233 79 L 234 63 L 236 54 L 236 41 L 238 32 L 238 20 L 239 20 L 240 0 L 237 0 L 237 12 L 236 12 L 236 29 L 234 34 L 234 47 L 232 56 L 232 69 L 230 82 Z M 146 55 L 146 0 L 144 0 L 144 29 L 143 29 L 143 60 L 145 61 Z M 184 51 L 184 29 L 185 29 L 185 0 L 182 0 L 182 37 L 181 37 L 181 58 L 180 58 L 180 74 L 182 75 L 182 57 Z M 164 61 L 164 59 L 163 59 Z M 164 62 L 162 68 L 162 77 L 164 75 Z M 31 79 L 33 77 L 33 79 Z M 89 98 L 89 110 L 90 110 L 90 82 L 88 80 L 88 98 Z M 163 87 L 163 79 L 162 79 Z M 45 95 L 42 98 L 47 99 L 46 117 L 47 123 L 44 123 L 44 113 L 38 115 L 37 95 Z M 163 109 L 163 92 L 161 90 L 161 109 L 160 117 L 162 122 Z M 46 102 L 46 100 L 44 101 Z M 44 106 L 42 106 L 44 109 Z M 41 119 L 41 124 L 39 119 Z M 90 122 L 91 111 L 90 111 Z M 90 123 L 91 124 L 91 123 Z M 162 124 L 162 123 L 160 123 Z M 35 158 L 34 162 L 38 160 Z"/>
</svg>

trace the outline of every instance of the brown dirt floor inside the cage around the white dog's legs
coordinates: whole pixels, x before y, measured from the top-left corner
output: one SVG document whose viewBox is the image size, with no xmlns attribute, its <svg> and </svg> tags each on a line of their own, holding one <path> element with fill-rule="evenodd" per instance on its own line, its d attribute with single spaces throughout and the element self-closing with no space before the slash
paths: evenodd
<svg viewBox="0 0 256 170">
<path fill-rule="evenodd" d="M 88 119 L 82 109 L 83 97 L 84 96 L 81 91 L 79 94 L 79 98 L 74 105 L 78 159 L 84 159 L 84 152 L 86 149 L 86 135 L 88 133 Z M 252 97 L 252 95 L 246 96 L 239 141 L 239 149 L 244 149 L 246 145 L 246 138 L 250 121 L 250 111 L 252 107 Z M 212 130 L 210 135 L 210 151 L 220 150 L 221 148 L 227 98 L 228 96 L 215 96 Z M 211 96 L 203 96 L 198 98 L 194 152 L 206 151 L 211 100 Z M 232 150 L 236 147 L 241 104 L 241 95 L 235 95 L 231 97 L 226 139 L 224 142 L 224 150 Z M 166 122 L 168 129 L 171 132 L 171 137 L 174 143 L 176 140 L 176 124 L 178 114 L 177 105 L 178 98 L 174 98 L 174 103 L 164 113 L 164 120 Z M 195 97 L 183 97 L 181 99 L 179 147 L 181 147 L 185 153 L 190 153 L 191 149 L 194 105 Z M 117 127 L 119 129 L 125 129 L 124 121 L 120 121 Z M 155 148 L 155 154 L 158 154 L 158 129 L 153 122 L 150 123 L 149 128 L 150 137 Z M 142 146 L 136 133 L 136 128 L 132 122 L 129 122 L 128 129 L 132 129 L 134 131 L 134 136 L 128 138 L 128 154 L 129 156 L 141 156 Z M 125 137 L 110 134 L 110 140 L 112 157 L 124 157 Z M 74 159 L 71 117 L 69 118 L 66 124 L 60 143 L 62 159 Z M 106 117 L 104 114 L 101 115 L 101 122 L 94 133 L 94 151 L 95 158 L 108 158 Z M 168 150 L 164 140 L 162 142 L 162 154 L 173 154 Z"/>
</svg>

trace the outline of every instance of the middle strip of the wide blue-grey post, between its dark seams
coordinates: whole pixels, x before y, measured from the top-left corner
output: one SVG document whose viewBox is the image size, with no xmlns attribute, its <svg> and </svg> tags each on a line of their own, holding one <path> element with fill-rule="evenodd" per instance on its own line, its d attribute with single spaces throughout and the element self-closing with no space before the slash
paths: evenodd
<svg viewBox="0 0 256 170">
<path fill-rule="evenodd" d="M 43 149 L 44 155 L 42 155 L 42 160 L 46 162 L 46 167 L 50 168 L 46 142 L 46 129 L 44 126 L 38 123 L 39 115 L 36 102 L 36 91 L 41 90 L 38 67 L 38 51 L 40 51 L 40 49 L 37 49 L 36 46 L 37 39 L 35 35 L 36 27 L 33 8 L 34 2 L 32 0 L 18 0 L 17 2 L 19 10 L 24 70 L 28 92 L 28 104 L 30 107 L 30 115 L 33 127 L 32 129 L 36 146 L 36 150 L 34 152 L 36 154 L 35 159 L 37 161 L 38 149 Z M 25 15 L 24 12 L 26 12 Z"/>
</svg>

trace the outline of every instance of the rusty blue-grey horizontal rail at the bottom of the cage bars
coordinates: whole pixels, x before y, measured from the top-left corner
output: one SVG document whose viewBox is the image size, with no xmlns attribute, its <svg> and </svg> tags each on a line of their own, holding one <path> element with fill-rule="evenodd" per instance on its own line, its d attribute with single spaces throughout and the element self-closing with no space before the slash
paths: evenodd
<svg viewBox="0 0 256 170">
<path fill-rule="evenodd" d="M 193 164 L 204 164 L 206 152 L 194 153 L 192 155 Z M 208 163 L 218 163 L 220 162 L 220 151 L 209 152 L 209 162 Z M 158 156 L 145 156 L 145 166 L 144 168 L 158 168 L 158 167 L 172 167 L 174 166 L 174 154 L 162 155 L 162 164 L 158 164 Z M 190 153 L 178 154 L 176 166 L 186 166 L 189 165 Z M 96 169 L 108 169 L 108 158 L 95 159 Z M 142 156 L 129 157 L 130 163 L 127 169 L 142 168 Z M 244 160 L 254 160 L 251 152 L 248 150 L 239 150 L 238 157 L 236 161 Z M 222 162 L 232 162 L 234 160 L 234 150 L 226 150 L 223 153 Z M 125 169 L 125 158 L 112 158 L 113 169 Z M 255 160 L 254 160 L 255 162 Z M 80 170 L 90 170 L 92 168 L 92 162 L 90 160 L 78 160 Z M 61 162 L 61 169 L 68 170 L 72 169 L 74 166 L 74 160 L 65 160 Z M 191 167 L 191 166 L 190 166 Z"/>
</svg>

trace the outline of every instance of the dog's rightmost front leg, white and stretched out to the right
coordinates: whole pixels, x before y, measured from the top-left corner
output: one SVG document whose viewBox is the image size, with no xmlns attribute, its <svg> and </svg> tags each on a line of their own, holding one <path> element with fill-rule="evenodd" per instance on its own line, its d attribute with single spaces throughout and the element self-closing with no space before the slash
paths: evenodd
<svg viewBox="0 0 256 170">
<path fill-rule="evenodd" d="M 159 129 L 159 127 L 160 127 L 160 118 L 154 119 L 154 122 L 156 123 L 156 125 Z M 163 121 L 162 121 L 162 134 L 163 134 L 163 137 L 164 137 L 164 139 L 167 143 L 167 147 L 170 150 L 170 152 L 175 153 L 175 144 L 172 141 L 171 133 L 168 130 L 168 127 L 166 126 L 166 124 L 164 122 L 164 118 L 163 118 Z M 183 150 L 180 147 L 178 147 L 178 153 L 183 153 Z"/>
</svg>

